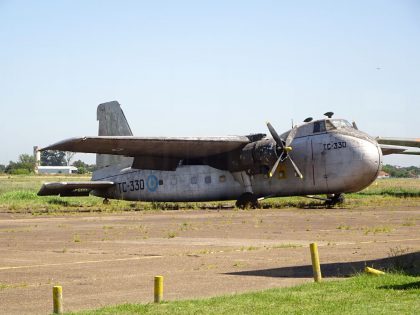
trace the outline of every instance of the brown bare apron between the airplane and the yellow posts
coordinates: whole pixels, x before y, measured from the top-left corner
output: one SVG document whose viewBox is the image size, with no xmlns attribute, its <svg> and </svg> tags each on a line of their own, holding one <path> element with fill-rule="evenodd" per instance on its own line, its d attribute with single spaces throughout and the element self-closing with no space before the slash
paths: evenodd
<svg viewBox="0 0 420 315">
<path fill-rule="evenodd" d="M 166 300 L 310 282 L 311 242 L 318 243 L 324 276 L 336 278 L 419 252 L 419 225 L 420 205 L 0 213 L 0 313 L 51 313 L 57 284 L 65 311 L 75 311 L 151 302 L 155 275 L 164 276 Z"/>
</svg>

